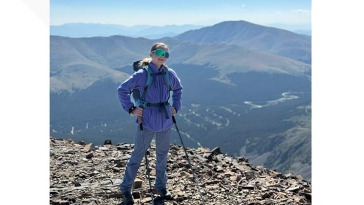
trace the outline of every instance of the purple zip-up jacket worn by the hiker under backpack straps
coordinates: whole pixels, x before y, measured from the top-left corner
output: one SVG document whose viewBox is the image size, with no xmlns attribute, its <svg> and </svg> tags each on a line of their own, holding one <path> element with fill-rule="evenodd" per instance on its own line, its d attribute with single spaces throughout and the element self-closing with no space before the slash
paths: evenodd
<svg viewBox="0 0 364 205">
<path fill-rule="evenodd" d="M 149 66 L 152 69 L 153 73 L 159 72 L 159 69 L 152 62 L 149 62 Z M 162 65 L 164 67 L 164 65 Z M 162 69 L 161 67 L 161 69 Z M 182 109 L 181 106 L 181 98 L 182 98 L 182 85 L 180 79 L 177 77 L 176 72 L 168 68 L 169 70 L 169 81 L 172 86 L 173 95 L 172 106 L 180 111 Z M 132 76 L 126 79 L 118 88 L 117 88 L 117 97 L 119 98 L 121 105 L 125 111 L 129 113 L 129 109 L 134 105 L 131 102 L 131 91 L 134 88 L 139 89 L 140 95 L 143 95 L 144 87 L 147 84 L 147 75 L 144 69 L 139 69 L 137 72 L 134 72 Z M 163 80 L 163 75 L 156 75 L 154 82 L 150 85 L 150 88 L 145 96 L 145 100 L 151 103 L 157 102 L 165 102 L 168 99 L 168 87 L 165 85 Z M 169 129 L 173 126 L 172 116 L 171 116 L 171 108 L 170 105 L 166 106 L 168 119 L 165 117 L 165 113 L 162 111 L 158 113 L 158 107 L 147 107 L 143 109 L 143 126 L 153 132 L 161 132 L 163 130 Z M 138 120 L 136 119 L 137 123 Z"/>
</svg>

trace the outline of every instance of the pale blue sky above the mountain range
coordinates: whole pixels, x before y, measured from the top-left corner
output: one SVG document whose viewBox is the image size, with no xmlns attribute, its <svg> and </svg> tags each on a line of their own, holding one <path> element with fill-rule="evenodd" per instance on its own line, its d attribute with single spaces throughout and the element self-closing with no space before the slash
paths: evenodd
<svg viewBox="0 0 364 205">
<path fill-rule="evenodd" d="M 50 0 L 50 25 L 212 25 L 226 20 L 311 24 L 311 0 Z"/>
</svg>

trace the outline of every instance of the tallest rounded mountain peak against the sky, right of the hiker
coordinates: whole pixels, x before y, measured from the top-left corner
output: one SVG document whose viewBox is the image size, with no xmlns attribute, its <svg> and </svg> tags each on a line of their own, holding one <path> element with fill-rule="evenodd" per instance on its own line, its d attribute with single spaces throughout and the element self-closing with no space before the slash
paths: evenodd
<svg viewBox="0 0 364 205">
<path fill-rule="evenodd" d="M 238 45 L 311 64 L 310 36 L 244 20 L 223 21 L 212 26 L 186 31 L 175 38 L 199 44 Z"/>
</svg>

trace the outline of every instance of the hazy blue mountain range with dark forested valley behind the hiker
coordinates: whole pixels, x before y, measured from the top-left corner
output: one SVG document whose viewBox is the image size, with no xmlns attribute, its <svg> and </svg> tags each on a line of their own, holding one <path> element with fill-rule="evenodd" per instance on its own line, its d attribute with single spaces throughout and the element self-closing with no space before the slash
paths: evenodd
<svg viewBox="0 0 364 205">
<path fill-rule="evenodd" d="M 182 82 L 187 146 L 311 178 L 311 37 L 247 21 L 155 40 L 51 35 L 50 135 L 132 143 L 136 125 L 116 88 L 154 42 L 169 46 L 166 64 Z"/>
</svg>

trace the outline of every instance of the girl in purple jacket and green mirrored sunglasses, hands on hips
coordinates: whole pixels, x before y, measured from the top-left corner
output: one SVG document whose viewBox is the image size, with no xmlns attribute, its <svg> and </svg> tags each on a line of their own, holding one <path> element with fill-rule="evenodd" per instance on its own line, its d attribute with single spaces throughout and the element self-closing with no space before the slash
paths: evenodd
<svg viewBox="0 0 364 205">
<path fill-rule="evenodd" d="M 137 123 L 143 123 L 143 136 L 140 131 L 139 124 L 137 126 L 134 149 L 131 157 L 126 165 L 126 170 L 122 182 L 120 183 L 120 191 L 123 195 L 124 204 L 133 204 L 132 197 L 132 184 L 134 182 L 136 173 L 139 169 L 140 162 L 144 157 L 143 139 L 146 149 L 148 149 L 150 142 L 155 135 L 156 143 L 156 179 L 154 187 L 161 197 L 170 197 L 170 192 L 166 189 L 167 175 L 167 154 L 169 150 L 171 129 L 172 129 L 172 115 L 175 115 L 181 110 L 182 98 L 182 85 L 180 79 L 174 70 L 166 68 L 164 63 L 169 57 L 169 49 L 164 43 L 155 43 L 150 49 L 149 56 L 139 62 L 139 67 L 144 67 L 134 72 L 125 82 L 117 88 L 117 95 L 121 105 L 129 114 L 138 116 Z M 143 95 L 145 85 L 147 84 L 146 72 L 152 71 L 155 78 L 149 85 L 148 91 L 145 93 L 144 100 L 149 102 L 149 105 L 144 109 L 142 107 L 135 107 L 130 100 L 131 92 L 137 90 Z M 170 106 L 169 91 L 170 88 L 165 83 L 165 76 L 162 74 L 167 69 L 169 76 L 170 88 L 173 91 L 172 100 L 173 104 Z M 148 73 L 149 74 L 149 73 Z"/>
</svg>

